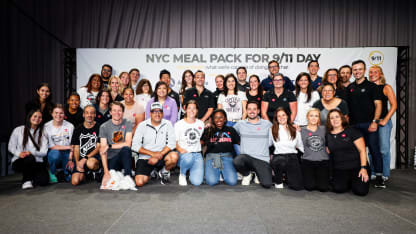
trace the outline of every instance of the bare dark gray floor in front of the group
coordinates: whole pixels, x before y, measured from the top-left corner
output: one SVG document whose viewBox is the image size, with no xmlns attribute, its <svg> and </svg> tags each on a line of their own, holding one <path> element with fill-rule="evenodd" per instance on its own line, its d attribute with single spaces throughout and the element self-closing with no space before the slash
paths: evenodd
<svg viewBox="0 0 416 234">
<path fill-rule="evenodd" d="M 100 191 L 90 182 L 23 191 L 0 179 L 0 233 L 416 233 L 416 171 L 394 170 L 387 189 L 350 193 L 181 187 Z"/>
</svg>

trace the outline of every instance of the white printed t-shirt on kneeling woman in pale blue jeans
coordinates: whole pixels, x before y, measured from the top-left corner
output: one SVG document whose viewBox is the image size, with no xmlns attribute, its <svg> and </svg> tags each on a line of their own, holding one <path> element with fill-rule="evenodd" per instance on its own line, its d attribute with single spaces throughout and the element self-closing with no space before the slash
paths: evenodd
<svg viewBox="0 0 416 234">
<path fill-rule="evenodd" d="M 204 133 L 204 122 L 199 119 L 192 124 L 185 122 L 185 119 L 175 124 L 176 141 L 181 148 L 190 153 L 201 151 L 202 133 Z"/>
</svg>

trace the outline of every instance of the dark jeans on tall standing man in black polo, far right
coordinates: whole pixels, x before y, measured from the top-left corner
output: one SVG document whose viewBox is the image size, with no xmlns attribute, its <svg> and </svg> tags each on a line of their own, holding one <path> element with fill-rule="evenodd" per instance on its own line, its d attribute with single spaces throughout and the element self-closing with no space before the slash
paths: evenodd
<svg viewBox="0 0 416 234">
<path fill-rule="evenodd" d="M 363 134 L 365 144 L 370 150 L 369 158 L 372 165 L 371 174 L 381 176 L 383 173 L 383 161 L 380 153 L 380 142 L 378 136 L 378 129 L 375 132 L 369 132 L 368 127 L 371 123 L 358 123 L 354 127 Z"/>
</svg>

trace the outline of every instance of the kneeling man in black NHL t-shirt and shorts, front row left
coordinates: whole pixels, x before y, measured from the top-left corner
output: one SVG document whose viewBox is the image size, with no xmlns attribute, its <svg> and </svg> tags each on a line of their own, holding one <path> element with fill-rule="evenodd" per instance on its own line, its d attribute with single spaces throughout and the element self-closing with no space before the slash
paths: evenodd
<svg viewBox="0 0 416 234">
<path fill-rule="evenodd" d="M 72 173 L 72 185 L 78 185 L 84 181 L 88 170 L 97 171 L 100 168 L 99 126 L 94 121 L 95 107 L 87 105 L 84 108 L 83 117 L 84 123 L 75 128 L 71 140 L 76 165 Z"/>
</svg>

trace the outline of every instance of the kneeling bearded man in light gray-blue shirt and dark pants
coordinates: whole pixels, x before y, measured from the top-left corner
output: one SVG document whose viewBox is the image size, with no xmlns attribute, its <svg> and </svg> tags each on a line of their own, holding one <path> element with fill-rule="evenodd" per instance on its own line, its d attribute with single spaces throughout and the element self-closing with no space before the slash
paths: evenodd
<svg viewBox="0 0 416 234">
<path fill-rule="evenodd" d="M 239 121 L 234 129 L 240 135 L 241 154 L 233 159 L 235 169 L 243 175 L 242 185 L 250 185 L 256 172 L 264 188 L 273 185 L 269 147 L 272 145 L 272 123 L 259 117 L 257 102 L 247 102 L 247 119 Z"/>
</svg>

